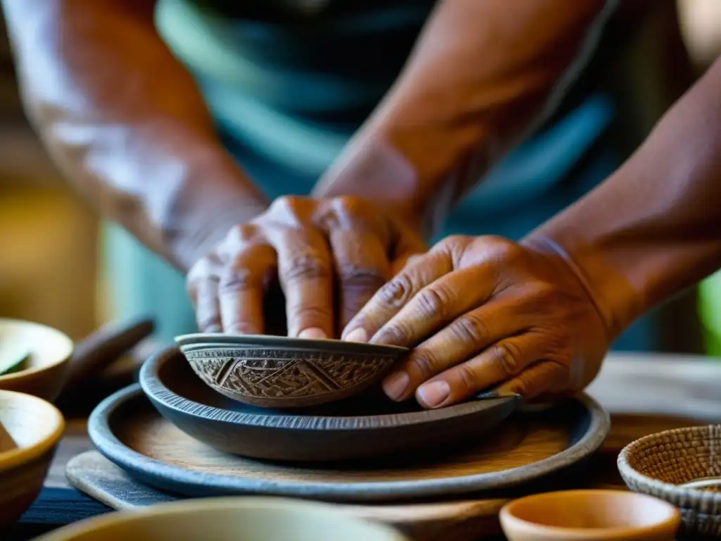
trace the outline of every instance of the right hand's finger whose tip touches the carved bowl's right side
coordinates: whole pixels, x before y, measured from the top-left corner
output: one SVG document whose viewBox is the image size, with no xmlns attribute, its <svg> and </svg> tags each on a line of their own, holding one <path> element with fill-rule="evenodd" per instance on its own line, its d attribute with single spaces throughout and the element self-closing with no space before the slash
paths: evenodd
<svg viewBox="0 0 721 541">
<path fill-rule="evenodd" d="M 464 289 L 467 288 L 460 291 Z M 431 377 L 470 359 L 503 338 L 518 335 L 531 325 L 534 317 L 534 305 L 526 297 L 516 296 L 501 296 L 464 313 L 420 343 L 399 369 L 384 379 L 386 395 L 397 401 L 407 399 Z M 425 322 L 420 322 L 420 327 L 423 325 Z M 430 329 L 424 327 L 422 330 L 425 333 Z"/>
</svg>

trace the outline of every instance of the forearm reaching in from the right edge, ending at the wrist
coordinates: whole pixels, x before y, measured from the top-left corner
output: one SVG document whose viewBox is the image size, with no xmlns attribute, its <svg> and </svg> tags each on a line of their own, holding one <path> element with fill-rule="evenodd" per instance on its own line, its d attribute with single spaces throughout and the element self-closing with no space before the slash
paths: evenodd
<svg viewBox="0 0 721 541">
<path fill-rule="evenodd" d="M 721 61 L 614 175 L 526 242 L 552 239 L 612 332 L 721 265 Z"/>
</svg>

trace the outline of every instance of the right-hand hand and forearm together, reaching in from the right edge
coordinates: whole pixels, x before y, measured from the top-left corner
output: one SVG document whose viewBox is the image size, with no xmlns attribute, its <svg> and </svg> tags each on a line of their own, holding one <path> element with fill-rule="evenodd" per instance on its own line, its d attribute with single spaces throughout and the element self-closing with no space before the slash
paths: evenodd
<svg viewBox="0 0 721 541">
<path fill-rule="evenodd" d="M 444 239 L 381 288 L 347 340 L 414 348 L 384 382 L 438 408 L 497 387 L 583 389 L 633 320 L 721 265 L 721 60 L 605 182 L 518 244 Z"/>
</svg>

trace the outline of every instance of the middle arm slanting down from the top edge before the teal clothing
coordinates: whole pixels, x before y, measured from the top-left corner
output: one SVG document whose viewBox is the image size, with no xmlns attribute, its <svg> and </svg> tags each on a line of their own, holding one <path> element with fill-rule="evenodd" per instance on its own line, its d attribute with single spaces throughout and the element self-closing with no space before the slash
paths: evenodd
<svg viewBox="0 0 721 541">
<path fill-rule="evenodd" d="M 614 4 L 440 2 L 397 84 L 315 193 L 384 194 L 432 228 L 553 107 Z"/>
</svg>

